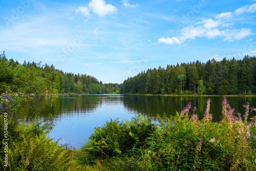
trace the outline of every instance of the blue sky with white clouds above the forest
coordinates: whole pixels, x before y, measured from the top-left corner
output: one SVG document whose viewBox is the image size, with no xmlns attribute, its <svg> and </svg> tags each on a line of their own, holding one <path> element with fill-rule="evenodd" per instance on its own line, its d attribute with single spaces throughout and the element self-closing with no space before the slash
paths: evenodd
<svg viewBox="0 0 256 171">
<path fill-rule="evenodd" d="M 256 0 L 0 0 L 0 51 L 122 83 L 148 68 L 256 56 Z"/>
</svg>

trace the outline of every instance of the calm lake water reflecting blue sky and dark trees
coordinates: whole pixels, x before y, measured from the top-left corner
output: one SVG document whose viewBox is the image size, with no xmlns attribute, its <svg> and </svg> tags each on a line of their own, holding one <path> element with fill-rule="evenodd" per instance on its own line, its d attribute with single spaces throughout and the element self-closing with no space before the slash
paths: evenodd
<svg viewBox="0 0 256 171">
<path fill-rule="evenodd" d="M 167 116 L 181 112 L 188 102 L 197 107 L 199 118 L 204 115 L 206 100 L 211 99 L 210 113 L 214 121 L 219 121 L 222 111 L 223 97 L 172 97 L 172 96 L 137 96 L 137 95 L 62 95 L 58 96 L 52 108 L 42 104 L 39 108 L 26 111 L 22 115 L 37 114 L 45 119 L 51 113 L 55 118 L 54 129 L 50 138 L 59 140 L 59 144 L 69 143 L 73 147 L 81 147 L 94 132 L 96 126 L 102 126 L 110 118 L 130 120 L 142 113 L 145 116 Z M 256 106 L 256 97 L 227 97 L 235 113 L 244 114 L 243 104 Z M 191 111 L 191 113 L 193 113 Z M 254 113 L 253 113 L 254 115 Z"/>
</svg>

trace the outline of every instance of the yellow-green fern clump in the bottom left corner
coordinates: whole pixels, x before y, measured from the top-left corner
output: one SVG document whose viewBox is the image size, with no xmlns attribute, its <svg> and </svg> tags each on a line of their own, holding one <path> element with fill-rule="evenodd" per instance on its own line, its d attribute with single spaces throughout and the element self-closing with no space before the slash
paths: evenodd
<svg viewBox="0 0 256 171">
<path fill-rule="evenodd" d="M 0 120 L 4 120 L 3 115 Z M 2 125 L 2 124 L 1 124 Z M 2 127 L 2 126 L 1 126 Z M 74 164 L 74 152 L 58 146 L 47 138 L 52 123 L 32 121 L 19 123 L 12 120 L 8 124 L 8 167 L 0 159 L 1 170 L 67 170 Z M 4 135 L 3 130 L 0 131 Z M 4 156 L 4 140 L 0 145 Z"/>
</svg>

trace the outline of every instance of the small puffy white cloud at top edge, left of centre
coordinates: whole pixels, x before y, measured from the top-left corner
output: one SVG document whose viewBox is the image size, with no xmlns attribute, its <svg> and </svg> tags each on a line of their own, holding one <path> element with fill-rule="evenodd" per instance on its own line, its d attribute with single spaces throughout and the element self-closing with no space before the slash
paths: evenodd
<svg viewBox="0 0 256 171">
<path fill-rule="evenodd" d="M 106 4 L 104 0 L 92 0 L 88 7 L 93 10 L 94 13 L 98 14 L 99 16 L 104 16 L 108 13 L 113 13 L 117 11 L 115 6 L 110 4 Z"/>
</svg>

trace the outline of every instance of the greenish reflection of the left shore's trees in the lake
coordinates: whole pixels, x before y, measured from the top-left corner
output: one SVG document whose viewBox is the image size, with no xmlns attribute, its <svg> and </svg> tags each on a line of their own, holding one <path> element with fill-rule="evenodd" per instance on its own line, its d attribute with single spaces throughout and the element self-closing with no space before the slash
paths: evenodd
<svg viewBox="0 0 256 171">
<path fill-rule="evenodd" d="M 21 111 L 22 116 L 28 115 L 29 117 L 34 117 L 35 115 L 39 117 L 47 117 L 51 113 L 55 117 L 74 115 L 86 115 L 88 113 L 95 112 L 102 105 L 115 105 L 116 103 L 121 104 L 121 99 L 118 96 L 107 96 L 107 95 L 63 95 L 58 96 L 54 106 L 49 106 L 46 104 L 41 104 L 36 109 L 26 109 Z M 61 115 L 58 115 L 61 114 Z"/>
</svg>

